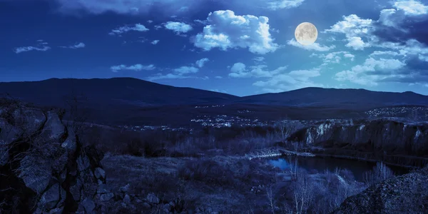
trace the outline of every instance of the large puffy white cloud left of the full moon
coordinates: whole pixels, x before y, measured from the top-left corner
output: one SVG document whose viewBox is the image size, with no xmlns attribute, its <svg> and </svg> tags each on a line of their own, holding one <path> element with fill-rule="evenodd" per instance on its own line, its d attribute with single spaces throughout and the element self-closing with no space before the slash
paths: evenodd
<svg viewBox="0 0 428 214">
<path fill-rule="evenodd" d="M 195 46 L 205 51 L 248 48 L 254 54 L 266 54 L 278 48 L 270 36 L 266 16 L 237 16 L 230 10 L 214 11 L 208 14 L 207 21 L 209 24 L 194 38 Z"/>
</svg>

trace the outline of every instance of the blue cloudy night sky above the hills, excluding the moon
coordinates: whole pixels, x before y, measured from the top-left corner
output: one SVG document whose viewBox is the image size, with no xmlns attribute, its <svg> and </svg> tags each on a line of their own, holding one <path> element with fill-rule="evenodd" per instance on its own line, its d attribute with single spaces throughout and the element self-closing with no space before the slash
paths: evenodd
<svg viewBox="0 0 428 214">
<path fill-rule="evenodd" d="M 315 24 L 315 44 L 294 39 Z M 428 94 L 416 0 L 0 0 L 0 81 L 135 77 L 238 96 L 310 86 Z"/>
</svg>

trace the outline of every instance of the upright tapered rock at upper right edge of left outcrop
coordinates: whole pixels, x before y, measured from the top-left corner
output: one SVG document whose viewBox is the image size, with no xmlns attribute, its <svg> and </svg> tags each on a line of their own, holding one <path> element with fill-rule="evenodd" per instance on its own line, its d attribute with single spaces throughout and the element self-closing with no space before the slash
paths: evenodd
<svg viewBox="0 0 428 214">
<path fill-rule="evenodd" d="M 43 134 L 46 138 L 59 141 L 59 139 L 66 133 L 66 126 L 63 125 L 54 111 L 49 111 L 46 115 L 48 118 L 43 128 Z"/>
</svg>

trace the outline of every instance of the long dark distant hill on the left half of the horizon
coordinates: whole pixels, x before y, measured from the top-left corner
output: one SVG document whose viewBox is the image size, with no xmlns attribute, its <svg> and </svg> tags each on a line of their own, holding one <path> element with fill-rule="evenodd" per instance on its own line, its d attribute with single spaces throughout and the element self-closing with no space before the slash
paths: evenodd
<svg viewBox="0 0 428 214">
<path fill-rule="evenodd" d="M 87 98 L 88 106 L 170 106 L 225 103 L 236 96 L 195 88 L 166 86 L 137 78 L 51 78 L 0 83 L 0 93 L 40 105 L 62 106 L 70 96 Z"/>
</svg>

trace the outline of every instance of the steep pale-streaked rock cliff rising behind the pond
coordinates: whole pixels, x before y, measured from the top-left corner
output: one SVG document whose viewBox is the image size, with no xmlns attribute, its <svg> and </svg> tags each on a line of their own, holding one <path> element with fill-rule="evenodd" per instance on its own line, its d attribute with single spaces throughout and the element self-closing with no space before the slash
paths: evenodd
<svg viewBox="0 0 428 214">
<path fill-rule="evenodd" d="M 382 159 L 424 166 L 428 158 L 428 123 L 407 124 L 384 119 L 355 123 L 325 122 L 292 134 L 290 141 L 322 148 L 315 153 Z M 402 158 L 399 158 L 402 156 Z M 413 161 L 406 156 L 418 157 Z"/>
</svg>

